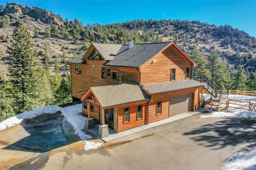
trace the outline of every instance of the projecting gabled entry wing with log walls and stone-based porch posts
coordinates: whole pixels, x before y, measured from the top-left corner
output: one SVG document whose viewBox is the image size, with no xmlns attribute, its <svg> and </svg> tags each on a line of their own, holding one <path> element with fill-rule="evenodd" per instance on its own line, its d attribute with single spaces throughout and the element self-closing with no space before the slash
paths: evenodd
<svg viewBox="0 0 256 170">
<path fill-rule="evenodd" d="M 133 83 L 91 87 L 81 101 L 88 122 L 92 122 L 93 119 L 99 121 L 98 133 L 102 138 L 108 136 L 109 132 L 105 130 L 108 128 L 120 132 L 145 125 L 147 102 L 150 99 L 151 97 L 137 83 Z"/>
</svg>

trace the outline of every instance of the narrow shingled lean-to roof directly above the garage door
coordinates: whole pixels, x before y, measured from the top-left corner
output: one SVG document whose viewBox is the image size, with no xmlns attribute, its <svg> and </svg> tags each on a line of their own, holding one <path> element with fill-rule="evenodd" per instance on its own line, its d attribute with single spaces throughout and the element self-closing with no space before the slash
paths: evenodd
<svg viewBox="0 0 256 170">
<path fill-rule="evenodd" d="M 177 91 L 182 89 L 189 89 L 193 87 L 201 87 L 203 86 L 198 81 L 188 79 L 188 80 L 180 80 L 180 81 L 170 81 L 165 83 L 154 83 L 143 85 L 143 89 L 148 91 L 151 95 L 156 93 L 164 93 L 169 91 Z"/>
</svg>

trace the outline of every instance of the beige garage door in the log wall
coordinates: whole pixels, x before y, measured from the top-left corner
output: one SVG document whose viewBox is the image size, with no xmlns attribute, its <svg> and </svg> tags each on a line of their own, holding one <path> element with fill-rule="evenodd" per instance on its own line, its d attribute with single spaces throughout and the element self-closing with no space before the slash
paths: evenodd
<svg viewBox="0 0 256 170">
<path fill-rule="evenodd" d="M 169 117 L 192 111 L 193 93 L 170 97 Z"/>
</svg>

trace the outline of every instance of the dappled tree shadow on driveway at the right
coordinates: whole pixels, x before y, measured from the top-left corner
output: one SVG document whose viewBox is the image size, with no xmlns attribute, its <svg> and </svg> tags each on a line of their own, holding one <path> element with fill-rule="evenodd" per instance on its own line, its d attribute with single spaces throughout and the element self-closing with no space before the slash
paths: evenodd
<svg viewBox="0 0 256 170">
<path fill-rule="evenodd" d="M 207 118 L 208 119 L 208 118 Z M 246 144 L 254 147 L 256 144 L 256 120 L 244 117 L 227 117 L 223 121 L 202 125 L 184 135 L 213 149 L 224 148 L 228 145 Z"/>
</svg>

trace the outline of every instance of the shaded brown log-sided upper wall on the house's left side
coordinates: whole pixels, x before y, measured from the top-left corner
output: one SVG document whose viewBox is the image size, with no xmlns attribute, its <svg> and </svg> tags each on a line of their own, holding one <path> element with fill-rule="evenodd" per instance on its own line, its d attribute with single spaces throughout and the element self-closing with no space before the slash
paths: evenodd
<svg viewBox="0 0 256 170">
<path fill-rule="evenodd" d="M 71 63 L 72 96 L 81 98 L 90 87 L 118 84 L 118 75 L 123 76 L 123 83 L 139 83 L 140 72 L 134 67 L 118 67 L 103 65 L 106 61 L 87 60 L 86 64 Z M 75 73 L 75 65 L 82 65 L 82 74 Z M 94 67 L 93 67 L 94 65 Z M 101 76 L 101 68 L 105 67 L 105 78 Z M 107 76 L 107 68 L 110 68 L 110 76 Z M 116 71 L 116 80 L 112 79 L 112 71 Z"/>
</svg>

